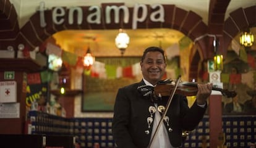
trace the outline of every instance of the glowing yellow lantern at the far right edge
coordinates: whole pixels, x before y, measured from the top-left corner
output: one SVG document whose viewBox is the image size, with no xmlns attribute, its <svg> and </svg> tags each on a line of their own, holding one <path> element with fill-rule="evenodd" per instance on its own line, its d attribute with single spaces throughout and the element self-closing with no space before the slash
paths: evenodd
<svg viewBox="0 0 256 148">
<path fill-rule="evenodd" d="M 244 31 L 240 36 L 240 44 L 244 47 L 251 47 L 254 44 L 254 35 L 250 31 Z"/>
</svg>

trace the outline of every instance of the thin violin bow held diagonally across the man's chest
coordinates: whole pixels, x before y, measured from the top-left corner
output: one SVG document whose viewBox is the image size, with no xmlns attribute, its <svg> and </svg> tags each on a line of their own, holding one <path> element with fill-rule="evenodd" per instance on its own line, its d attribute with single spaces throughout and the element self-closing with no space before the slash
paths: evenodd
<svg viewBox="0 0 256 148">
<path fill-rule="evenodd" d="M 167 104 L 166 104 L 166 107 L 165 107 L 165 110 L 164 110 L 164 112 L 163 112 L 163 115 L 162 115 L 160 121 L 158 122 L 158 125 L 156 126 L 155 133 L 153 134 L 153 137 L 151 138 L 151 141 L 150 141 L 150 144 L 148 145 L 148 148 L 151 147 L 151 144 L 152 144 L 152 142 L 153 142 L 153 140 L 154 140 L 156 134 L 158 133 L 158 130 L 159 130 L 159 128 L 160 128 L 160 126 L 161 126 L 161 123 L 163 122 L 164 117 L 165 117 L 165 115 L 166 115 L 166 113 L 167 113 L 167 111 L 168 111 L 168 109 L 169 109 L 169 106 L 170 106 L 170 104 L 171 104 L 171 101 L 173 100 L 173 96 L 174 96 L 174 94 L 175 94 L 175 91 L 176 91 L 177 86 L 179 85 L 180 81 L 181 81 L 181 75 L 179 75 L 179 77 L 178 77 L 177 80 L 176 80 L 174 89 L 173 89 L 173 91 L 171 92 L 171 95 L 169 96 L 169 99 L 168 99 L 168 102 L 167 102 Z"/>
</svg>

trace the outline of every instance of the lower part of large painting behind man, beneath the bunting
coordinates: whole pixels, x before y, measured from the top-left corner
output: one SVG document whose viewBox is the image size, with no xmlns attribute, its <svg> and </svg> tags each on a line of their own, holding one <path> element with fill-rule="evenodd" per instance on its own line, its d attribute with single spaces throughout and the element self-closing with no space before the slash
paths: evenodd
<svg viewBox="0 0 256 148">
<path fill-rule="evenodd" d="M 83 94 L 84 112 L 112 112 L 117 90 L 137 81 L 135 78 L 98 80 L 90 76 L 85 76 L 84 80 L 87 81 Z"/>
</svg>

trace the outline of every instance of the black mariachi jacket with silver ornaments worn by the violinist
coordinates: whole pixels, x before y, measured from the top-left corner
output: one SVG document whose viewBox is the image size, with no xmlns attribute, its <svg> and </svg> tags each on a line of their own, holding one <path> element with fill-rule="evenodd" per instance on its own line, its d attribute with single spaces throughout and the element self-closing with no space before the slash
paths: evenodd
<svg viewBox="0 0 256 148">
<path fill-rule="evenodd" d="M 138 91 L 137 88 L 142 85 L 145 85 L 143 80 L 120 88 L 117 92 L 113 117 L 113 138 L 117 147 L 148 147 L 153 123 L 149 128 L 147 118 L 151 116 L 149 108 L 155 105 Z M 158 106 L 166 106 L 168 98 L 162 97 Z M 169 124 L 164 121 L 173 147 L 181 146 L 182 130 L 194 130 L 202 120 L 205 110 L 206 107 L 202 108 L 196 102 L 189 109 L 186 96 L 174 95 L 166 113 Z M 153 113 L 154 117 L 155 113 Z M 169 130 L 170 128 L 172 130 Z"/>
</svg>

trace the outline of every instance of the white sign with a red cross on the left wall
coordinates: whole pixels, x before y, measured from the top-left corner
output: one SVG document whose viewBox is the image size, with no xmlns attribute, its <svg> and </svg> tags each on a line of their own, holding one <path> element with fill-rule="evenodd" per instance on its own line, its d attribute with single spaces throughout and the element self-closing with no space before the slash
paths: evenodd
<svg viewBox="0 0 256 148">
<path fill-rule="evenodd" d="M 0 81 L 0 103 L 17 102 L 16 81 Z"/>
</svg>

